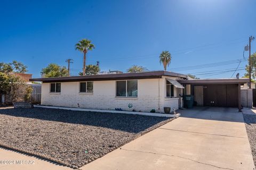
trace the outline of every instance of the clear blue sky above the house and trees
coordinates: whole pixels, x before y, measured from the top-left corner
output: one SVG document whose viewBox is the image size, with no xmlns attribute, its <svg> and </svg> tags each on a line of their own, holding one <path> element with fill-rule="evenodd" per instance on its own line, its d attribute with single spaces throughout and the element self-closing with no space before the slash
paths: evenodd
<svg viewBox="0 0 256 170">
<path fill-rule="evenodd" d="M 169 71 L 230 78 L 234 71 L 226 71 L 236 69 L 239 62 L 234 60 L 243 58 L 249 36 L 256 36 L 254 0 L 0 3 L 0 62 L 20 61 L 34 78 L 49 63 L 67 66 L 68 58 L 74 60 L 71 74 L 82 71 L 83 55 L 74 47 L 82 38 L 96 47 L 86 64 L 100 61 L 101 71 L 126 71 L 134 64 L 163 70 L 158 56 L 169 50 Z M 231 62 L 211 64 L 226 61 Z M 245 64 L 238 66 L 240 75 Z M 216 74 L 205 74 L 211 71 Z"/>
</svg>

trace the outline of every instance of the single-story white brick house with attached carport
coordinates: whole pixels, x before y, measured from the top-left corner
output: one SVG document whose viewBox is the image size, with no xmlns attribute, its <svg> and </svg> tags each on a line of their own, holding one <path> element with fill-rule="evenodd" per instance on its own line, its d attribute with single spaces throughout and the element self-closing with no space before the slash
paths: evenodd
<svg viewBox="0 0 256 170">
<path fill-rule="evenodd" d="M 195 95 L 195 100 L 202 106 L 241 109 L 241 84 L 249 79 L 188 80 L 184 74 L 150 71 L 30 81 L 42 81 L 42 105 L 110 110 L 121 108 L 123 111 L 135 109 L 137 112 L 155 109 L 157 113 L 163 113 L 164 107 L 171 107 L 171 111 L 183 107 L 183 94 Z M 214 94 L 219 97 L 211 98 Z M 219 101 L 220 98 L 227 102 Z M 211 105 L 214 100 L 215 105 Z"/>
</svg>

